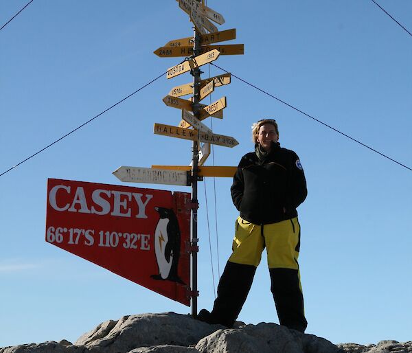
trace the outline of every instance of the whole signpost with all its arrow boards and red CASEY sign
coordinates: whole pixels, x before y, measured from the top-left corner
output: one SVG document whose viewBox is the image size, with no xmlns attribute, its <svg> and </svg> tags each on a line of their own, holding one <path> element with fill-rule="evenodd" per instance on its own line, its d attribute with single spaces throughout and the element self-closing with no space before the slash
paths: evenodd
<svg viewBox="0 0 412 353">
<path fill-rule="evenodd" d="M 193 82 L 173 87 L 163 98 L 181 109 L 179 126 L 154 125 L 154 133 L 192 141 L 190 166 L 122 166 L 113 174 L 126 183 L 192 186 L 192 194 L 121 185 L 49 179 L 46 241 L 182 304 L 197 315 L 197 182 L 203 177 L 232 177 L 236 167 L 204 166 L 211 144 L 234 147 L 234 137 L 214 133 L 201 122 L 222 119 L 226 97 L 200 101 L 231 82 L 231 74 L 201 80 L 200 67 L 222 55 L 244 53 L 243 44 L 211 45 L 236 38 L 236 29 L 218 31 L 222 14 L 204 1 L 177 0 L 194 23 L 194 35 L 155 50 L 160 57 L 185 56 L 166 78 L 189 72 Z M 213 21 L 214 23 L 212 23 Z M 209 33 L 208 33 L 209 32 Z M 192 95 L 190 100 L 179 97 Z M 190 113 L 192 112 L 192 113 Z M 201 143 L 203 145 L 201 146 Z"/>
</svg>

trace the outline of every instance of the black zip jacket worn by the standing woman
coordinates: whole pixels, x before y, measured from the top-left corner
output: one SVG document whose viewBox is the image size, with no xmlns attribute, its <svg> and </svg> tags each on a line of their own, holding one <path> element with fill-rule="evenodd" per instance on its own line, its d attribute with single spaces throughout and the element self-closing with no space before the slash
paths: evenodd
<svg viewBox="0 0 412 353">
<path fill-rule="evenodd" d="M 273 143 L 263 161 L 255 152 L 244 155 L 231 186 L 240 217 L 257 225 L 296 217 L 296 208 L 307 194 L 299 157 L 278 143 Z"/>
</svg>

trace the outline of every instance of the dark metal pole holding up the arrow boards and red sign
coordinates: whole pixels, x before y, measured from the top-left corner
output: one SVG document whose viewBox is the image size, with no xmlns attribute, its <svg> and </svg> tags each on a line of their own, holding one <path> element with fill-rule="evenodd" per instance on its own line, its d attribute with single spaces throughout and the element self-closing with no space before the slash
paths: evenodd
<svg viewBox="0 0 412 353">
<path fill-rule="evenodd" d="M 194 27 L 193 34 L 193 55 L 198 56 L 201 52 L 201 35 Z M 200 117 L 199 101 L 200 101 L 200 81 L 201 81 L 201 70 L 198 67 L 192 69 L 193 75 L 193 113 L 195 117 Z M 198 244 L 198 234 L 197 234 L 197 182 L 198 182 L 198 141 L 193 141 L 193 163 L 192 163 L 192 316 L 196 317 L 197 308 L 197 244 Z"/>
</svg>

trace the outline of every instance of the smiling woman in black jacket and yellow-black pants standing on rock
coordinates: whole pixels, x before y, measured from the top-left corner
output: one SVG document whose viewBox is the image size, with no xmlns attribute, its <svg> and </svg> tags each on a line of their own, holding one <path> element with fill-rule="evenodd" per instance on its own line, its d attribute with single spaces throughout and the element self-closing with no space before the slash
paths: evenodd
<svg viewBox="0 0 412 353">
<path fill-rule="evenodd" d="M 240 212 L 233 253 L 220 277 L 213 310 L 201 310 L 198 319 L 233 326 L 266 247 L 279 322 L 304 332 L 308 323 L 297 262 L 300 225 L 296 210 L 307 195 L 304 170 L 295 152 L 280 147 L 274 119 L 253 124 L 252 137 L 255 152 L 242 157 L 231 186 L 233 203 Z"/>
</svg>

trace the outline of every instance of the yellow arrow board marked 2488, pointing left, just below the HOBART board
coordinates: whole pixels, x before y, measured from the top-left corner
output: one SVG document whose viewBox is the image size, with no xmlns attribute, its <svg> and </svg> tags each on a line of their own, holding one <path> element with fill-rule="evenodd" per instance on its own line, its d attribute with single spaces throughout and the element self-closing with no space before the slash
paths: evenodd
<svg viewBox="0 0 412 353">
<path fill-rule="evenodd" d="M 227 44 L 227 45 L 203 45 L 201 53 L 210 52 L 217 49 L 220 55 L 243 55 L 243 44 Z M 176 58 L 178 56 L 191 56 L 193 54 L 193 46 L 185 45 L 181 47 L 160 47 L 153 52 L 160 58 Z"/>
</svg>

